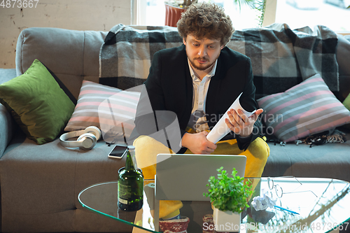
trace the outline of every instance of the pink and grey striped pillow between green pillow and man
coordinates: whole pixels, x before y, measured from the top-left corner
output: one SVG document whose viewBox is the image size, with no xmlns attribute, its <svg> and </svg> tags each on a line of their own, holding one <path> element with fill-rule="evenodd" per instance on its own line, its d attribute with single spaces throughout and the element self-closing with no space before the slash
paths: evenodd
<svg viewBox="0 0 350 233">
<path fill-rule="evenodd" d="M 119 97 L 122 101 L 118 100 Z M 105 106 L 107 99 L 111 100 L 109 101 L 112 103 L 111 106 Z M 124 92 L 116 87 L 83 80 L 76 108 L 64 130 L 76 131 L 94 125 L 102 129 L 102 134 L 104 134 L 105 129 L 113 128 L 116 122 L 124 122 L 125 134 L 129 136 L 134 128 L 134 116 L 138 102 L 139 93 Z M 107 107 L 106 114 L 104 114 L 104 107 Z M 116 121 L 109 119 L 111 118 L 110 110 Z M 122 132 L 121 129 L 120 132 Z"/>
</svg>

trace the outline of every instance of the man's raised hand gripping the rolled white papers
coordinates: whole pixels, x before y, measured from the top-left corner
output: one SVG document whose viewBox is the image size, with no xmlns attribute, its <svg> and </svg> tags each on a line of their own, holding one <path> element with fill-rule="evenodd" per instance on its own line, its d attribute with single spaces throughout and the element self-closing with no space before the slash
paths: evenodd
<svg viewBox="0 0 350 233">
<path fill-rule="evenodd" d="M 249 136 L 253 132 L 253 126 L 256 120 L 258 120 L 259 115 L 264 110 L 259 108 L 253 115 L 247 117 L 241 109 L 235 111 L 235 109 L 230 109 L 228 111 L 228 118 L 225 119 L 226 125 L 235 132 L 235 134 L 240 136 Z"/>
</svg>

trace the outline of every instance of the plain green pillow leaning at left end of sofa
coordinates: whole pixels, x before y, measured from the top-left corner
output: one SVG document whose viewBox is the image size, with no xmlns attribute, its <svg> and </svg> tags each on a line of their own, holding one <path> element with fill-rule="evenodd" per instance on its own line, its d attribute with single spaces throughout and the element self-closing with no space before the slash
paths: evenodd
<svg viewBox="0 0 350 233">
<path fill-rule="evenodd" d="M 21 76 L 0 85 L 0 103 L 38 144 L 53 141 L 75 107 L 38 59 Z"/>
</svg>

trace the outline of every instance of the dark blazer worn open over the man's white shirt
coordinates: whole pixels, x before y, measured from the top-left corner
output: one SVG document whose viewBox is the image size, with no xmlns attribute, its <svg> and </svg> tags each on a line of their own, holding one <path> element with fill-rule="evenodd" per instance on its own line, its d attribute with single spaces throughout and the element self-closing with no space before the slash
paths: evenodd
<svg viewBox="0 0 350 233">
<path fill-rule="evenodd" d="M 186 133 L 193 105 L 193 80 L 190 76 L 185 45 L 155 52 L 150 73 L 144 84 L 153 111 L 166 110 L 176 113 L 182 137 Z M 207 92 L 205 113 L 210 129 L 216 125 L 241 92 L 243 92 L 240 97 L 241 106 L 246 111 L 257 109 L 251 59 L 225 47 L 218 57 L 216 73 L 211 77 Z M 139 106 L 137 115 L 142 111 Z M 137 117 L 135 124 L 145 125 L 145 118 Z M 241 140 L 233 132 L 222 140 L 237 138 L 239 148 L 246 150 L 249 143 L 259 136 L 260 125 L 260 120 L 255 122 L 253 134 L 248 140 Z M 186 148 L 181 151 L 184 150 Z"/>
</svg>

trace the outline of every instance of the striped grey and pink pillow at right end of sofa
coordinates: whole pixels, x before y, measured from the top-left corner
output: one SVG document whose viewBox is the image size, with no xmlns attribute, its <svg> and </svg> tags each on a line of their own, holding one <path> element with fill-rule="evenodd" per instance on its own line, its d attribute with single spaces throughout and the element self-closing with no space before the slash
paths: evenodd
<svg viewBox="0 0 350 233">
<path fill-rule="evenodd" d="M 286 90 L 258 99 L 262 120 L 281 141 L 295 141 L 350 122 L 350 111 L 330 92 L 319 74 Z"/>
</svg>

